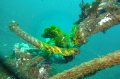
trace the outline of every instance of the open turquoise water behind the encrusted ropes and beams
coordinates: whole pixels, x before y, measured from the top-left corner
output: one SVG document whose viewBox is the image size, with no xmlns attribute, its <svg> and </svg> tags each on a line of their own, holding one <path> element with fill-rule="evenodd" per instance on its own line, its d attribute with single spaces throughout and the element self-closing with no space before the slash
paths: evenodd
<svg viewBox="0 0 120 79">
<path fill-rule="evenodd" d="M 91 3 L 94 0 L 84 0 Z M 23 30 L 43 40 L 41 34 L 46 27 L 57 25 L 71 33 L 73 23 L 81 12 L 81 0 L 0 0 L 0 55 L 10 55 L 15 43 L 25 42 L 8 28 L 11 20 L 20 23 Z M 120 49 L 120 24 L 89 37 L 74 60 L 67 64 L 53 64 L 56 72 L 62 72 Z M 120 65 L 97 72 L 85 79 L 120 79 Z"/>
</svg>

